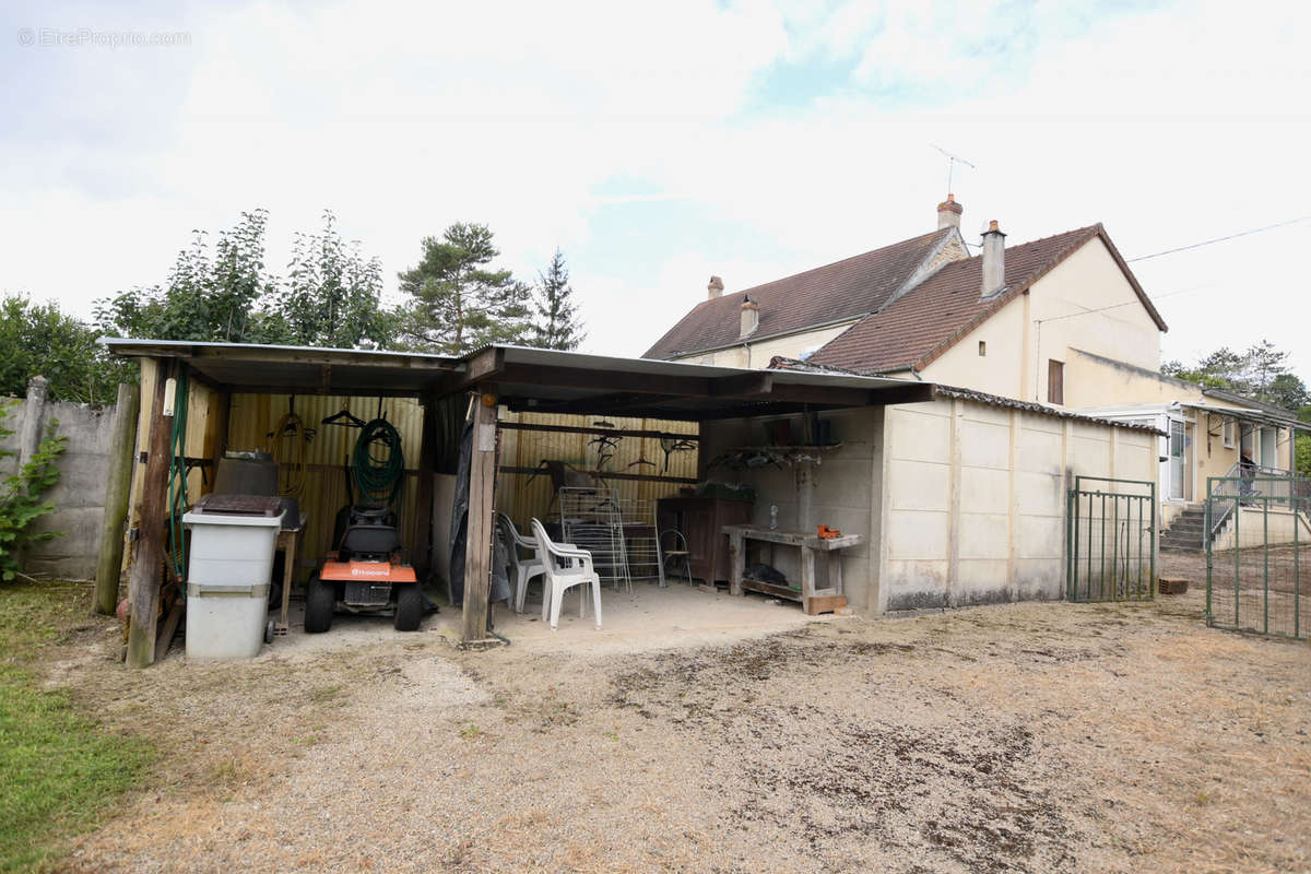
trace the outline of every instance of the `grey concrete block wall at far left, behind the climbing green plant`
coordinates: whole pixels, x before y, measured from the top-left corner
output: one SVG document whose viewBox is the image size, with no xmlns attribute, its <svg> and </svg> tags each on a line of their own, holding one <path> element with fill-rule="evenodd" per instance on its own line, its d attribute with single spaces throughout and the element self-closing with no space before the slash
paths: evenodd
<svg viewBox="0 0 1311 874">
<path fill-rule="evenodd" d="M 31 417 L 37 419 L 38 434 L 43 434 L 47 422 L 58 419 L 58 432 L 68 438 L 58 461 L 59 482 L 46 494 L 55 502 L 55 512 L 34 523 L 38 532 L 55 531 L 63 536 L 33 546 L 24 569 L 29 574 L 89 579 L 96 573 L 100 549 L 114 408 L 49 401 L 34 404 L 30 400 L 7 402 L 13 405 L 8 408 L 5 427 L 16 434 L 4 440 L 5 449 L 20 451 L 18 432 Z M 17 457 L 4 459 L 0 474 L 14 473 L 17 465 Z"/>
</svg>

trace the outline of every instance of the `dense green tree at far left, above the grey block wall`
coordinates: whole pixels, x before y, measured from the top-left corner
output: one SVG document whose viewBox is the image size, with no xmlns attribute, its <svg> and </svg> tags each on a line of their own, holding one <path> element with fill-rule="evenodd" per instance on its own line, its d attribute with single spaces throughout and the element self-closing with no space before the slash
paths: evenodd
<svg viewBox="0 0 1311 874">
<path fill-rule="evenodd" d="M 0 301 L 0 394 L 21 397 L 41 375 L 50 380 L 51 400 L 113 404 L 125 366 L 106 355 L 97 335 L 58 304 L 8 295 Z"/>
</svg>

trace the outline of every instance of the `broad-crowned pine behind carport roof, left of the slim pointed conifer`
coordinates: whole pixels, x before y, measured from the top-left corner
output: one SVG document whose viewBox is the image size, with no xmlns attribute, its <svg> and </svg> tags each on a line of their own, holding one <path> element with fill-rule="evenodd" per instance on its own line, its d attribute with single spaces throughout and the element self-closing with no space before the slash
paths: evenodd
<svg viewBox="0 0 1311 874">
<path fill-rule="evenodd" d="M 425 237 L 422 261 L 400 274 L 408 296 L 399 313 L 400 342 L 446 355 L 526 342 L 531 290 L 509 270 L 489 266 L 499 254 L 482 224 L 456 223 L 440 237 Z"/>
</svg>

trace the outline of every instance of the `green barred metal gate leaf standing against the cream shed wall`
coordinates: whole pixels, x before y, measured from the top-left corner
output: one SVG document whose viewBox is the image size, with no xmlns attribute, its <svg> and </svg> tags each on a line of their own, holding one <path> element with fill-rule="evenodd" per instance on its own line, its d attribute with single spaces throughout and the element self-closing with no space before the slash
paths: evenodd
<svg viewBox="0 0 1311 874">
<path fill-rule="evenodd" d="M 1156 591 L 1156 484 L 1075 477 L 1066 529 L 1066 598 L 1148 600 Z"/>
</svg>

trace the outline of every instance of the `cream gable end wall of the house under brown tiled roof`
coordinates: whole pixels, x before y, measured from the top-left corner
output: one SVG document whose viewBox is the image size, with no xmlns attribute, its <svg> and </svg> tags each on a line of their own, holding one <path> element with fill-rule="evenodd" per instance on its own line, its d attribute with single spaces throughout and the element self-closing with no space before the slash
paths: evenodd
<svg viewBox="0 0 1311 874">
<path fill-rule="evenodd" d="M 987 343 L 986 356 L 978 352 L 979 341 Z M 1055 359 L 1066 364 L 1066 408 L 1158 400 L 1155 394 L 1116 394 L 1124 373 L 1092 359 L 1084 358 L 1074 372 L 1075 349 L 1148 371 L 1160 366 L 1160 330 L 1099 238 L 1089 240 L 922 373 L 945 385 L 1046 404 L 1047 360 Z"/>
</svg>

